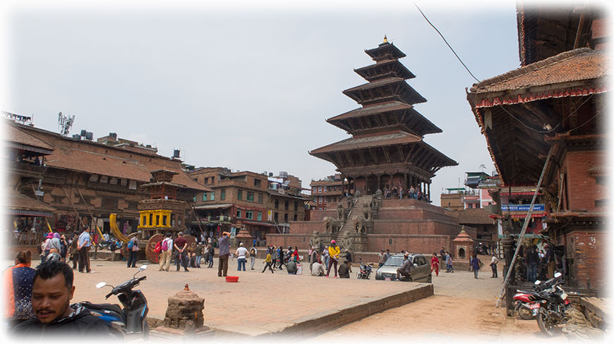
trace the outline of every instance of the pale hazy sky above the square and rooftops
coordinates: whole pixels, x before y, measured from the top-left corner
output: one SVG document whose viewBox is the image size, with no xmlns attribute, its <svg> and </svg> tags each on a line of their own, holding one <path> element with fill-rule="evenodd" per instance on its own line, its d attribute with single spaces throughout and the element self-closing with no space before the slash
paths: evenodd
<svg viewBox="0 0 614 344">
<path fill-rule="evenodd" d="M 416 1 L 480 80 L 519 67 L 514 1 Z M 443 133 L 424 141 L 459 163 L 431 185 L 494 171 L 466 101 L 476 82 L 410 1 L 8 1 L 1 11 L 0 109 L 70 135 L 118 137 L 194 166 L 287 171 L 309 188 L 335 173 L 308 154 L 349 138 L 327 118 L 359 107 L 343 90 L 366 82 L 364 53 L 384 35 L 407 57 L 415 109 Z M 481 165 L 486 168 L 481 168 Z"/>
</svg>

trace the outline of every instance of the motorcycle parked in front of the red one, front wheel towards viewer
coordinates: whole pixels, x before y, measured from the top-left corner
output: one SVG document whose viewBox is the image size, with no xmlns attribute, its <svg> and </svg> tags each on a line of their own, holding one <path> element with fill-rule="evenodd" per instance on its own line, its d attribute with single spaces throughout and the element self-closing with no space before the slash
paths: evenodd
<svg viewBox="0 0 614 344">
<path fill-rule="evenodd" d="M 557 279 L 551 288 L 529 295 L 529 300 L 535 302 L 531 309 L 537 318 L 537 326 L 549 337 L 554 336 L 555 327 L 565 324 L 566 311 L 572 307 L 567 293 L 560 286 L 562 282 L 562 279 Z"/>
</svg>

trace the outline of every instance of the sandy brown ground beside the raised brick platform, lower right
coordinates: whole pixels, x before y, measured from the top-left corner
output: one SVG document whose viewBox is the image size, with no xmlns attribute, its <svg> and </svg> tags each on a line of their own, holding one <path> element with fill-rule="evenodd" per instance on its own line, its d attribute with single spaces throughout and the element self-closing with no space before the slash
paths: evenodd
<svg viewBox="0 0 614 344">
<path fill-rule="evenodd" d="M 309 341 L 356 340 L 362 343 L 371 338 L 403 340 L 407 336 L 424 343 L 443 338 L 489 343 L 567 341 L 562 333 L 554 338 L 544 337 L 535 320 L 505 316 L 505 309 L 495 307 L 501 285 L 502 278 L 490 278 L 490 271 L 486 270 L 478 274 L 477 280 L 468 271 L 443 272 L 433 276 L 435 295 L 375 314 Z"/>
</svg>

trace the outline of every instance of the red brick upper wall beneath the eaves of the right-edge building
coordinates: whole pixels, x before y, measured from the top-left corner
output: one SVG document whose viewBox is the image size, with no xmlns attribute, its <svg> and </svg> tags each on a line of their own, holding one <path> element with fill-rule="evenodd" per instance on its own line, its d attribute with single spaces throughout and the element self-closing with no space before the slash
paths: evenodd
<svg viewBox="0 0 614 344">
<path fill-rule="evenodd" d="M 608 185 L 597 184 L 589 174 L 589 168 L 603 166 L 604 152 L 568 152 L 563 165 L 567 171 L 567 196 L 569 210 L 606 211 L 605 207 L 595 207 L 595 199 L 608 199 Z"/>
</svg>

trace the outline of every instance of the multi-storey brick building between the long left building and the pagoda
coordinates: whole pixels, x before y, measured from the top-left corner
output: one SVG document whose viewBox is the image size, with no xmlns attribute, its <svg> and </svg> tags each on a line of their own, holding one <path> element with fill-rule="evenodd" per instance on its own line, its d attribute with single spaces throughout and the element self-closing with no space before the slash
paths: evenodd
<svg viewBox="0 0 614 344">
<path fill-rule="evenodd" d="M 301 180 L 287 173 L 232 172 L 224 167 L 195 168 L 191 178 L 212 189 L 193 199 L 200 221 L 194 229 L 219 235 L 221 231 L 241 228 L 252 238 L 264 239 L 267 233 L 284 233 L 290 221 L 303 221 L 305 202 Z M 204 228 L 203 228 L 204 229 Z"/>
</svg>

